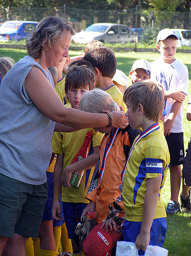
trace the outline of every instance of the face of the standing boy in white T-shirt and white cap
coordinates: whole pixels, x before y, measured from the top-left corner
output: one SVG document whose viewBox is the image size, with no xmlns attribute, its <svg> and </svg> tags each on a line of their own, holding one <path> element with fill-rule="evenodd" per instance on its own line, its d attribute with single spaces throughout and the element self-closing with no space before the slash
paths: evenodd
<svg viewBox="0 0 191 256">
<path fill-rule="evenodd" d="M 157 49 L 159 50 L 160 56 L 165 63 L 171 64 L 174 61 L 176 46 L 177 40 L 173 38 L 166 38 L 163 41 L 159 41 L 157 44 Z"/>
</svg>

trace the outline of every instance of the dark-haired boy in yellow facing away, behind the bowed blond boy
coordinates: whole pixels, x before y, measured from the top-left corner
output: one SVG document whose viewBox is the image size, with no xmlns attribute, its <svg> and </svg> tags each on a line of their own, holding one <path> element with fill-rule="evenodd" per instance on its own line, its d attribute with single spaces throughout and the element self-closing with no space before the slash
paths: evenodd
<svg viewBox="0 0 191 256">
<path fill-rule="evenodd" d="M 114 52 L 107 47 L 94 48 L 87 52 L 83 59 L 88 60 L 94 67 L 96 86 L 109 93 L 114 102 L 125 111 L 123 93 L 112 82 L 117 66 Z"/>
</svg>

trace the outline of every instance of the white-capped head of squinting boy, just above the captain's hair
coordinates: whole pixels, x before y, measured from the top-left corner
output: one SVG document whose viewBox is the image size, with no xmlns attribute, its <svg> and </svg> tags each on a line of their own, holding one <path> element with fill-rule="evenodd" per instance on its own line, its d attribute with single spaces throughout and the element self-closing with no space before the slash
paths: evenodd
<svg viewBox="0 0 191 256">
<path fill-rule="evenodd" d="M 151 78 L 151 65 L 146 59 L 137 59 L 129 72 L 132 84 Z"/>
</svg>

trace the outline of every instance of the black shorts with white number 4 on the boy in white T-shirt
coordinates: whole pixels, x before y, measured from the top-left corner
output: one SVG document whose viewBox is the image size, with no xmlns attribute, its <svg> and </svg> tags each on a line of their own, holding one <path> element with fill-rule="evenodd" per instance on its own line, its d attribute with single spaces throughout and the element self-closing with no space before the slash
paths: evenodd
<svg viewBox="0 0 191 256">
<path fill-rule="evenodd" d="M 183 145 L 183 132 L 171 132 L 166 136 L 171 161 L 169 166 L 182 164 L 182 159 L 185 156 L 185 147 Z"/>
</svg>

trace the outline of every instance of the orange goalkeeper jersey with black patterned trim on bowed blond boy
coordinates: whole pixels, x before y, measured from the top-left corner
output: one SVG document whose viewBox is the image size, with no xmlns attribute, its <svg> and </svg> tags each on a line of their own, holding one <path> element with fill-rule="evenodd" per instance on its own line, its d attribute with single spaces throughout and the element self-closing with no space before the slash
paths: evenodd
<svg viewBox="0 0 191 256">
<path fill-rule="evenodd" d="M 112 141 L 112 136 L 116 137 Z M 107 217 L 109 205 L 116 201 L 122 208 L 122 179 L 121 173 L 128 157 L 134 139 L 140 133 L 130 125 L 125 129 L 113 129 L 102 139 L 100 150 L 99 177 L 91 183 L 87 194 L 88 199 L 96 203 L 97 223 Z M 109 144 L 111 145 L 110 150 Z"/>
</svg>

